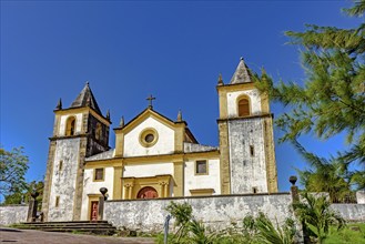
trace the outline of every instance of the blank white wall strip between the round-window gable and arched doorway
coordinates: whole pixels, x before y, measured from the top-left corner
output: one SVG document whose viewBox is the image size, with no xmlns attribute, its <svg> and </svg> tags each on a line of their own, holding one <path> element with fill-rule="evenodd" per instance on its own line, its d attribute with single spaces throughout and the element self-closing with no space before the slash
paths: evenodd
<svg viewBox="0 0 365 244">
<path fill-rule="evenodd" d="M 124 177 L 152 177 L 161 174 L 173 175 L 174 165 L 169 163 L 153 163 L 153 164 L 139 164 L 139 165 L 125 165 Z"/>
</svg>

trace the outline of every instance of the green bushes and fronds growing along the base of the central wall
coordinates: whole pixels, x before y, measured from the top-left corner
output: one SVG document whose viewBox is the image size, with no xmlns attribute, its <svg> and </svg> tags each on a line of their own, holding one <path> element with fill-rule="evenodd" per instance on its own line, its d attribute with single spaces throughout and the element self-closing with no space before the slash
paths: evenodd
<svg viewBox="0 0 365 244">
<path fill-rule="evenodd" d="M 196 243 L 196 244 L 229 244 L 229 243 L 294 243 L 296 233 L 295 224 L 287 220 L 280 227 L 273 224 L 267 216 L 260 213 L 256 218 L 246 216 L 242 221 L 242 227 L 233 225 L 230 228 L 212 232 L 203 223 L 192 216 L 192 207 L 187 203 L 178 204 L 171 202 L 166 207 L 175 218 L 175 234 L 169 236 L 169 243 Z M 186 215 L 187 214 L 187 215 Z M 162 236 L 158 240 L 163 243 Z"/>
</svg>

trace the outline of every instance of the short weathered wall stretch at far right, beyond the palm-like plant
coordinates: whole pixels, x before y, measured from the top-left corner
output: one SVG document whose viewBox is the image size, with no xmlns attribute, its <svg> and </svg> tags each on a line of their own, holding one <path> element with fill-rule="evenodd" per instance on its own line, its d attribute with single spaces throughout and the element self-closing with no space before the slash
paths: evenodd
<svg viewBox="0 0 365 244">
<path fill-rule="evenodd" d="M 365 223 L 365 204 L 332 204 L 331 209 L 346 221 Z"/>
</svg>

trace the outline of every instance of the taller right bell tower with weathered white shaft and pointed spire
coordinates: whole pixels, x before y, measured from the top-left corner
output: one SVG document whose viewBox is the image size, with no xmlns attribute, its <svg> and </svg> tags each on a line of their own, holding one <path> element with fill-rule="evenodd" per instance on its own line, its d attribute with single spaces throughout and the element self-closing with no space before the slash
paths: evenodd
<svg viewBox="0 0 365 244">
<path fill-rule="evenodd" d="M 277 192 L 273 115 L 241 58 L 229 84 L 220 75 L 222 194 Z"/>
</svg>

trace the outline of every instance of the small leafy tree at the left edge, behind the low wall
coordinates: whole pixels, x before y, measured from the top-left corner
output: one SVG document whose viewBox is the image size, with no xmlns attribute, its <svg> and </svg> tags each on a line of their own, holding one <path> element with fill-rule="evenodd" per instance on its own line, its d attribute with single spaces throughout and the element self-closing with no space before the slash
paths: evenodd
<svg viewBox="0 0 365 244">
<path fill-rule="evenodd" d="M 22 148 L 14 148 L 10 152 L 0 148 L 0 194 L 11 195 L 27 189 L 24 174 L 29 167 L 28 156 Z"/>
</svg>

